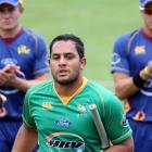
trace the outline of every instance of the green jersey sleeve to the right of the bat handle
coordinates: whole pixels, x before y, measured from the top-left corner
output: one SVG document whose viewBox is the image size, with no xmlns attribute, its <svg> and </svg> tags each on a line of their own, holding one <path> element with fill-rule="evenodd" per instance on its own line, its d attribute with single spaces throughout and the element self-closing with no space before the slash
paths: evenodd
<svg viewBox="0 0 152 152">
<path fill-rule="evenodd" d="M 128 125 L 123 103 L 116 96 L 109 94 L 104 101 L 104 127 L 112 143 L 121 143 L 131 136 L 131 128 Z"/>
</svg>

